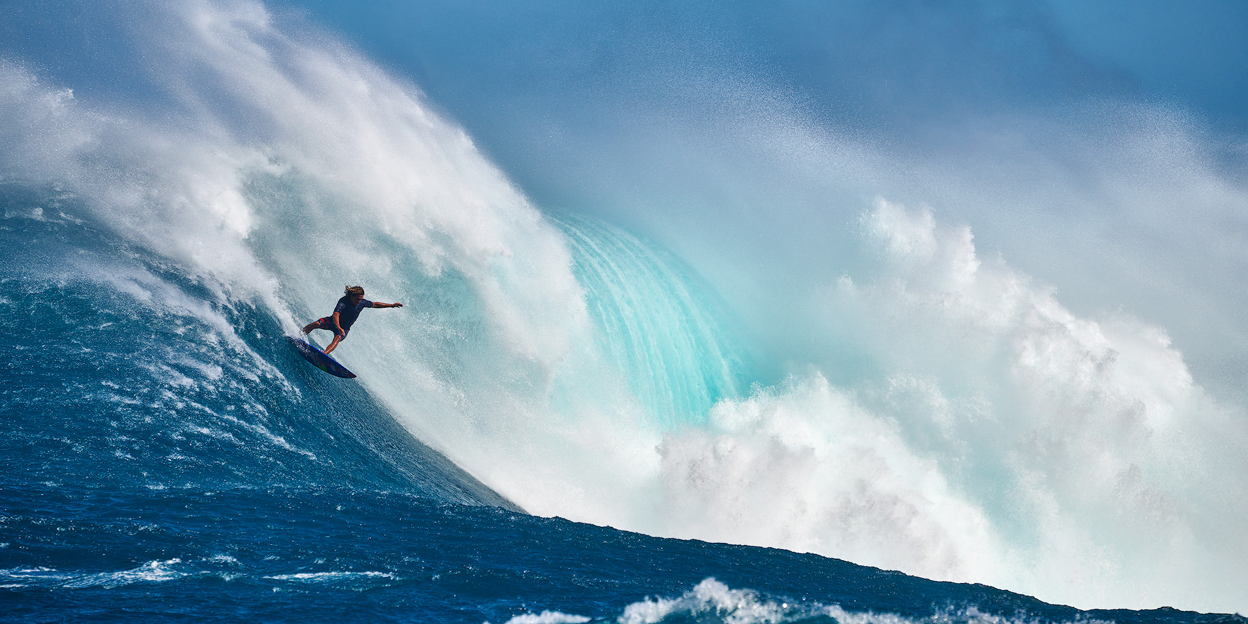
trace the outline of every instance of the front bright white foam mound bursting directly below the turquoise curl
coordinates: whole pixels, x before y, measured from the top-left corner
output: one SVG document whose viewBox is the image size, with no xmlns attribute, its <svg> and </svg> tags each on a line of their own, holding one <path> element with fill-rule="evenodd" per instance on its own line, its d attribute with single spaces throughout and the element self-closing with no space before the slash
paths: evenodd
<svg viewBox="0 0 1248 624">
<path fill-rule="evenodd" d="M 936 579 L 1000 572 L 1005 549 L 985 512 L 895 422 L 819 373 L 720 403 L 709 428 L 669 433 L 660 453 L 664 533 Z"/>
</svg>

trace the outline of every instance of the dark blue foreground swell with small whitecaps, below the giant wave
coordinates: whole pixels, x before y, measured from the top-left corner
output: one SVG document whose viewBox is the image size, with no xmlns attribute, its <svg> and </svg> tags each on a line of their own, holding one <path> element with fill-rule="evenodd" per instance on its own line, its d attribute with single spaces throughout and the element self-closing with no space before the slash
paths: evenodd
<svg viewBox="0 0 1248 624">
<path fill-rule="evenodd" d="M 1236 623 L 402 492 L 6 490 L 6 622 Z"/>
</svg>

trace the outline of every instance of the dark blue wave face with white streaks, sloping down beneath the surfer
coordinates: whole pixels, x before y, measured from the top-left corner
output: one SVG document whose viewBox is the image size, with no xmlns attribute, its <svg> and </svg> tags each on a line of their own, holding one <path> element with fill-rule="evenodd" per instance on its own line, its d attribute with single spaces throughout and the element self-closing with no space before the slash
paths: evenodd
<svg viewBox="0 0 1248 624">
<path fill-rule="evenodd" d="M 271 313 L 70 216 L 65 192 L 2 188 L 5 489 L 283 483 L 514 507 L 367 392 L 310 374 L 268 339 Z"/>
</svg>

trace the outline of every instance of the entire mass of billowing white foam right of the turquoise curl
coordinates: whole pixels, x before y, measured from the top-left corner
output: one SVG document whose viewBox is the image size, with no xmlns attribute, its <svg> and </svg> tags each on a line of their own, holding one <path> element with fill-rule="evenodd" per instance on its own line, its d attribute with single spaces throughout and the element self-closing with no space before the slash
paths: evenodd
<svg viewBox="0 0 1248 624">
<path fill-rule="evenodd" d="M 1204 396 L 1164 332 L 1077 317 L 927 210 L 881 200 L 865 225 L 887 266 L 824 301 L 895 354 L 891 374 L 854 388 L 797 374 L 670 432 L 660 530 L 1082 605 L 1197 600 L 1209 583 L 1234 595 L 1193 568 L 1233 575 L 1223 548 L 1246 548 L 1218 528 L 1248 513 L 1224 495 L 1246 466 L 1222 436 L 1242 439 L 1243 417 Z"/>
</svg>

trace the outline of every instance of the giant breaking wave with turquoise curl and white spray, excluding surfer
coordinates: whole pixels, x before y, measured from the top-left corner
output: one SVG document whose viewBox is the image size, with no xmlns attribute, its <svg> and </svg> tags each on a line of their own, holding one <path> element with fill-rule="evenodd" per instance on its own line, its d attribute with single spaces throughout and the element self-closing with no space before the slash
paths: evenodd
<svg viewBox="0 0 1248 624">
<path fill-rule="evenodd" d="M 26 322 L 76 318 L 64 366 L 117 373 L 75 396 L 135 418 L 92 442 L 49 433 L 50 457 L 97 446 L 100 478 L 155 488 L 256 467 L 386 483 L 300 468 L 321 438 L 272 413 L 312 392 L 281 333 L 362 283 L 407 307 L 366 313 L 337 353 L 352 401 L 470 474 L 429 485 L 453 499 L 1077 605 L 1248 605 L 1244 414 L 1163 329 L 1075 314 L 968 227 L 879 198 L 857 223 L 869 268 L 775 302 L 819 311 L 794 339 L 854 357 L 778 363 L 688 265 L 543 213 L 331 36 L 251 1 L 149 9 L 122 30 L 167 96 L 152 107 L 0 60 L 6 317 L 72 301 Z M 384 427 L 356 423 L 359 453 L 403 452 Z M 110 468 L 136 461 L 127 428 L 165 443 L 142 463 L 182 468 Z M 256 449 L 255 467 L 213 467 L 217 447 Z"/>
</svg>

